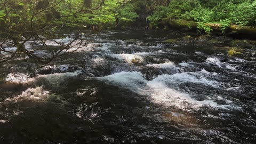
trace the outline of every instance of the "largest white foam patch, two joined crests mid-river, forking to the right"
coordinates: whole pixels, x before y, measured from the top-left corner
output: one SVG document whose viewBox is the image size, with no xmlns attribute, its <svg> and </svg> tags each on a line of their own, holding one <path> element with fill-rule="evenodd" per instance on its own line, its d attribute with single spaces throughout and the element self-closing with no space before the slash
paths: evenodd
<svg viewBox="0 0 256 144">
<path fill-rule="evenodd" d="M 199 72 L 201 73 L 201 72 Z M 209 98 L 203 101 L 198 101 L 185 92 L 174 90 L 167 85 L 178 86 L 179 83 L 191 82 L 203 85 L 218 85 L 218 82 L 211 81 L 205 77 L 196 77 L 188 73 L 174 74 L 174 75 L 160 75 L 147 81 L 143 75 L 138 71 L 116 73 L 113 75 L 99 78 L 107 80 L 108 83 L 117 86 L 129 88 L 133 92 L 148 96 L 149 99 L 166 107 L 177 107 L 181 109 L 186 108 L 222 108 L 227 109 L 229 105 L 218 105 L 214 98 Z"/>
</svg>

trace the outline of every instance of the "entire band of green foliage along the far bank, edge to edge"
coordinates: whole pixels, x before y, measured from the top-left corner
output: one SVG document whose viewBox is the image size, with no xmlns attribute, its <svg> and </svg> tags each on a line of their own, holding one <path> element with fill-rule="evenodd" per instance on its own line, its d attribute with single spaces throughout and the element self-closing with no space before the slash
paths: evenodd
<svg viewBox="0 0 256 144">
<path fill-rule="evenodd" d="M 230 25 L 256 25 L 255 0 L 2 0 L 0 4 L 0 21 L 13 31 L 28 28 L 30 23 L 38 28 L 127 27 L 141 19 L 156 29 L 168 29 L 172 20 L 193 21 L 197 22 L 198 31 L 206 33 L 212 30 L 206 23 L 220 24 L 223 32 Z M 49 6 L 51 9 L 47 9 Z M 39 11 L 42 12 L 32 16 Z M 189 24 L 188 27 L 191 28 Z"/>
</svg>

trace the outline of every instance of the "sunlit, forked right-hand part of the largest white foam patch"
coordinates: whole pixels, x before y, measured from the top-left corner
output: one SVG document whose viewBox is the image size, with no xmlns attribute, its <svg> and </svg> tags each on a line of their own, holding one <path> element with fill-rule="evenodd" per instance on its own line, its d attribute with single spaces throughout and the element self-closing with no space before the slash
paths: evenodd
<svg viewBox="0 0 256 144">
<path fill-rule="evenodd" d="M 226 108 L 226 106 L 218 105 L 218 103 L 214 102 L 215 99 L 198 101 L 191 98 L 187 93 L 174 90 L 173 88 L 167 86 L 171 85 L 177 88 L 180 83 L 187 82 L 214 87 L 219 85 L 219 83 L 216 81 L 211 81 L 203 76 L 197 77 L 195 75 L 197 75 L 197 73 L 160 75 L 153 79 L 153 81 L 149 81 L 147 83 L 149 88 L 148 90 L 144 91 L 144 93 L 149 94 L 150 98 L 154 102 L 164 104 L 165 106 L 174 106 L 178 108 L 200 108 L 203 106 L 211 108 Z"/>
</svg>

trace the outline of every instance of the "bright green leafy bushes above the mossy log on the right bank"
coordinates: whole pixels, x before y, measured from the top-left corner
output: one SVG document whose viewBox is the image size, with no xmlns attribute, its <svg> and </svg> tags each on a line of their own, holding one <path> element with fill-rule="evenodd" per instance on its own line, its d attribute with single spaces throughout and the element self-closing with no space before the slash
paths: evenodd
<svg viewBox="0 0 256 144">
<path fill-rule="evenodd" d="M 218 23 L 220 30 L 224 32 L 230 25 L 255 26 L 256 1 L 172 0 L 167 6 L 155 7 L 153 14 L 147 19 L 150 21 L 150 28 L 167 26 L 167 21 L 171 20 L 187 20 L 197 22 L 200 32 L 212 31 L 207 23 Z"/>
</svg>

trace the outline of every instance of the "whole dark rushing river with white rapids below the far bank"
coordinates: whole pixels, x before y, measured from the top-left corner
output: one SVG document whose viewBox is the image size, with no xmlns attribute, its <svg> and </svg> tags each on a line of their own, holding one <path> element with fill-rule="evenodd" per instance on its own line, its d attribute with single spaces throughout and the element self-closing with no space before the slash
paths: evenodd
<svg viewBox="0 0 256 144">
<path fill-rule="evenodd" d="M 3 65 L 10 73 L 1 74 L 0 143 L 256 141 L 253 41 L 236 45 L 245 55 L 230 57 L 235 39 L 224 36 L 92 37 L 55 66 L 29 59 Z"/>
</svg>

